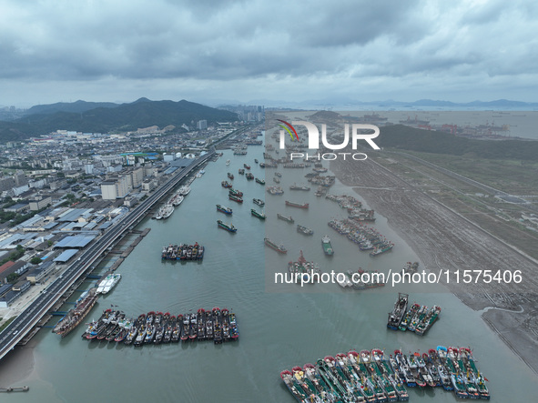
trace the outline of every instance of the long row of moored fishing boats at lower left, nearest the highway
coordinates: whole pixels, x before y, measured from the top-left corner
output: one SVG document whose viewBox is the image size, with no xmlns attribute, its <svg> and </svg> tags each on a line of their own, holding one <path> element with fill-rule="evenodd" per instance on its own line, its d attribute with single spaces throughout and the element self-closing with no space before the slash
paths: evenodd
<svg viewBox="0 0 538 403">
<path fill-rule="evenodd" d="M 213 340 L 220 344 L 237 340 L 239 327 L 236 315 L 227 308 L 200 308 L 197 313 L 179 314 L 177 317 L 169 312 L 151 311 L 136 319 L 109 308 L 98 320 L 87 324 L 82 338 L 115 341 L 135 347 L 179 340 Z"/>
</svg>

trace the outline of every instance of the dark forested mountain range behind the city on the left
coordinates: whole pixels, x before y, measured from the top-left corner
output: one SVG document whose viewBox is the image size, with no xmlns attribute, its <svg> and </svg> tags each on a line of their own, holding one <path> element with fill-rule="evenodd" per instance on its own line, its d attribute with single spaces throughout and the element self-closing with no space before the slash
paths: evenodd
<svg viewBox="0 0 538 403">
<path fill-rule="evenodd" d="M 22 118 L 0 121 L 0 142 L 21 141 L 56 130 L 108 133 L 149 126 L 195 126 L 198 120 L 207 120 L 210 125 L 215 122 L 233 122 L 238 120 L 238 116 L 185 100 L 150 101 L 140 98 L 130 104 L 86 101 L 57 103 L 32 106 Z"/>
</svg>

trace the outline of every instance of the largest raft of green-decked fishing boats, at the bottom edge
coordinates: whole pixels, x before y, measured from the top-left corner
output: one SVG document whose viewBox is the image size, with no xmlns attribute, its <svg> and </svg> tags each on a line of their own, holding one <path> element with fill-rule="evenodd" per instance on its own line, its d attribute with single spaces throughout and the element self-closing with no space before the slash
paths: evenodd
<svg viewBox="0 0 538 403">
<path fill-rule="evenodd" d="M 351 350 L 320 358 L 316 365 L 283 370 L 280 378 L 301 403 L 407 401 L 406 386 L 442 387 L 458 398 L 490 398 L 470 348 L 439 346 L 408 356 L 395 350 L 389 358 L 381 349 Z"/>
</svg>

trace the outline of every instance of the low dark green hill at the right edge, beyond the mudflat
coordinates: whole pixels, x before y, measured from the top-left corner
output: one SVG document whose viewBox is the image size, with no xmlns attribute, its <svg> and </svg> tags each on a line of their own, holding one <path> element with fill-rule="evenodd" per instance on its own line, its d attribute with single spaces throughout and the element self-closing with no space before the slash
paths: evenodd
<svg viewBox="0 0 538 403">
<path fill-rule="evenodd" d="M 472 140 L 449 133 L 394 125 L 381 127 L 381 135 L 375 142 L 378 146 L 421 153 L 538 162 L 538 141 Z"/>
</svg>

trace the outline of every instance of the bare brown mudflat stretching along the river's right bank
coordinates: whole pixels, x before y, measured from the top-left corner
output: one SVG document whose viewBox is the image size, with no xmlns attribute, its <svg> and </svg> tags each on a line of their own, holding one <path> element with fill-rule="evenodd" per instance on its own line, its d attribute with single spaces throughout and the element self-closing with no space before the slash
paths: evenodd
<svg viewBox="0 0 538 403">
<path fill-rule="evenodd" d="M 538 373 L 538 265 L 513 247 L 492 237 L 450 208 L 433 200 L 419 188 L 367 161 L 333 161 L 331 169 L 340 181 L 387 217 L 431 271 L 521 270 L 520 284 L 492 281 L 489 284 L 442 282 L 464 304 L 475 310 L 489 309 L 482 317 L 513 351 Z M 398 246 L 396 246 L 398 247 Z M 424 286 L 427 291 L 427 285 Z M 501 310 L 506 309 L 506 310 Z"/>
</svg>

